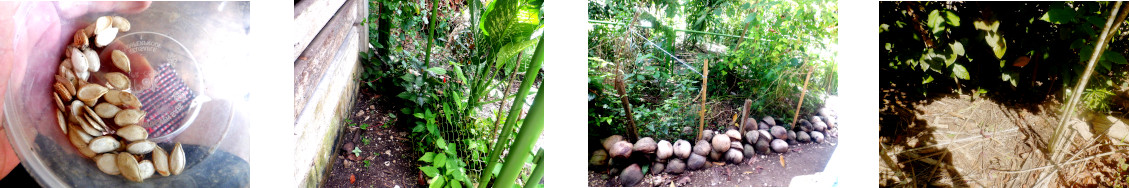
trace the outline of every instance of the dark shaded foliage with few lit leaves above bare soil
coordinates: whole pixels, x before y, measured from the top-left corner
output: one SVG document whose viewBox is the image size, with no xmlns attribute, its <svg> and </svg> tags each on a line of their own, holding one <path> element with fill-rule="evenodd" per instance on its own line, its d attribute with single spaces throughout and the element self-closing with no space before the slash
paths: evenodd
<svg viewBox="0 0 1129 188">
<path fill-rule="evenodd" d="M 999 99 L 1066 101 L 1111 2 L 882 2 L 882 86 Z M 1124 24 L 1124 23 L 1118 23 Z M 1109 113 L 1126 88 L 1126 27 L 1111 34 L 1083 105 Z M 885 74 L 890 72 L 891 74 Z M 1065 102 L 1064 102 L 1065 104 Z"/>
</svg>

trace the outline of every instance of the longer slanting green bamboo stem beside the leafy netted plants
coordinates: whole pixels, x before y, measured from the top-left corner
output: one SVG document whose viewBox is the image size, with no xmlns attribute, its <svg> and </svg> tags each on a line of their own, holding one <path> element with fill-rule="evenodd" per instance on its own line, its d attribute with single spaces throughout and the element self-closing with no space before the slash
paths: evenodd
<svg viewBox="0 0 1129 188">
<path fill-rule="evenodd" d="M 498 155 L 500 155 L 501 151 L 506 149 L 508 143 L 507 141 L 509 141 L 509 135 L 511 134 L 510 129 L 514 129 L 514 124 L 517 123 L 517 117 L 522 115 L 522 107 L 523 105 L 525 105 L 524 96 L 527 96 L 530 93 L 530 88 L 533 86 L 533 81 L 537 78 L 537 71 L 541 70 L 541 64 L 544 62 L 544 60 L 545 60 L 545 38 L 542 37 L 541 42 L 537 42 L 537 51 L 533 53 L 533 62 L 530 62 L 530 68 L 525 70 L 525 79 L 522 80 L 522 87 L 518 88 L 517 90 L 516 95 L 517 97 L 514 97 L 514 104 L 513 106 L 509 107 L 509 115 L 506 115 L 506 125 L 502 126 L 501 136 L 498 136 L 498 138 L 495 140 L 495 146 L 490 147 L 490 156 L 487 158 L 489 161 L 487 168 L 483 170 L 482 174 L 479 178 L 479 182 L 489 182 L 490 178 L 493 176 L 491 172 L 493 171 L 493 168 L 498 165 Z M 541 93 L 541 90 L 543 89 L 544 88 L 540 88 L 539 93 Z M 526 120 L 528 120 L 530 118 L 528 116 L 531 115 L 532 111 L 530 114 L 526 114 Z M 523 126 L 523 128 L 525 126 Z M 479 187 L 485 188 L 487 183 L 479 183 Z"/>
</svg>

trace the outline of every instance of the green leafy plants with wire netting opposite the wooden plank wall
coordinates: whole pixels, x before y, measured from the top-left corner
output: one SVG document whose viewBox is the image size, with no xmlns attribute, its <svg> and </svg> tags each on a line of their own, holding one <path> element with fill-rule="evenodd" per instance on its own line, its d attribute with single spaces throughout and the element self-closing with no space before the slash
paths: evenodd
<svg viewBox="0 0 1129 188">
<path fill-rule="evenodd" d="M 364 72 L 359 81 L 403 104 L 401 126 L 412 127 L 412 137 L 419 141 L 420 170 L 431 187 L 473 186 L 473 173 L 485 171 L 482 158 L 497 132 L 516 131 L 497 126 L 506 116 L 495 108 L 532 96 L 514 96 L 508 89 L 535 86 L 516 86 L 513 80 L 518 69 L 540 70 L 540 63 L 531 64 L 530 55 L 544 26 L 542 2 L 379 0 L 368 5 L 371 11 L 365 21 L 374 50 L 360 54 Z M 523 77 L 542 77 L 535 73 Z"/>
</svg>

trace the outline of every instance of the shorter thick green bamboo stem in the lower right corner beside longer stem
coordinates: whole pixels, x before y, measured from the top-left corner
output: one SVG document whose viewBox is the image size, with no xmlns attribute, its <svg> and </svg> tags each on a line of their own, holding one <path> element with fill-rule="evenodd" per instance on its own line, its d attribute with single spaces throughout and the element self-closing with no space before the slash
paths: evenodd
<svg viewBox="0 0 1129 188">
<path fill-rule="evenodd" d="M 541 88 L 544 88 L 545 83 L 541 83 Z M 514 138 L 514 145 L 509 147 L 509 154 L 506 155 L 506 164 L 501 165 L 501 172 L 498 174 L 498 179 L 495 179 L 495 187 L 514 187 L 514 180 L 517 179 L 517 174 L 522 172 L 522 167 L 525 165 L 525 158 L 530 156 L 526 154 L 530 147 L 533 147 L 533 142 L 541 137 L 541 133 L 544 131 L 544 118 L 545 118 L 545 90 L 537 91 L 537 98 L 533 100 L 533 107 L 530 108 L 530 113 L 525 116 L 525 122 L 522 123 L 522 131 L 518 131 L 517 137 Z M 489 173 L 487 173 L 489 174 Z M 479 187 L 484 187 L 485 183 L 479 185 Z"/>
</svg>

